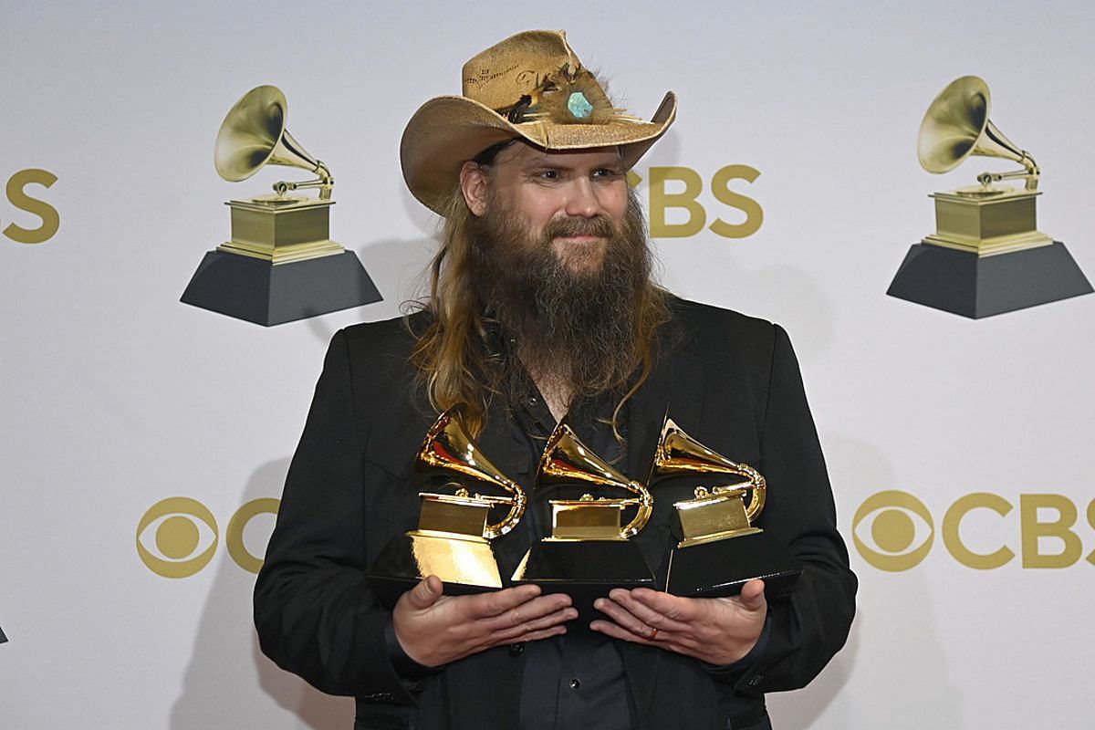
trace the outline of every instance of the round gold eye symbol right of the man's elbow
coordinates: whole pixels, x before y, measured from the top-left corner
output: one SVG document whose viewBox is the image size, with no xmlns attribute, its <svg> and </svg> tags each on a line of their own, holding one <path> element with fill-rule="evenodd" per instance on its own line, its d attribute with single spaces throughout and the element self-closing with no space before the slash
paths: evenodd
<svg viewBox="0 0 1095 730">
<path fill-rule="evenodd" d="M 896 489 L 868 497 L 852 524 L 856 549 L 879 570 L 912 568 L 927 557 L 935 537 L 935 523 L 924 502 Z"/>
</svg>

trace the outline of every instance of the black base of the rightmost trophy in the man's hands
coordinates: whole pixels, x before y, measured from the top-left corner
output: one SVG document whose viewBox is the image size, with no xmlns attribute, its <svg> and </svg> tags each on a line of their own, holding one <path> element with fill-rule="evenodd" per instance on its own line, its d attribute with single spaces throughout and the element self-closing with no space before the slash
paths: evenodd
<svg viewBox="0 0 1095 730">
<path fill-rule="evenodd" d="M 685 598 L 737 595 L 757 578 L 764 595 L 776 601 L 791 595 L 803 566 L 766 532 L 754 532 L 688 547 L 669 556 L 666 592 Z"/>
</svg>

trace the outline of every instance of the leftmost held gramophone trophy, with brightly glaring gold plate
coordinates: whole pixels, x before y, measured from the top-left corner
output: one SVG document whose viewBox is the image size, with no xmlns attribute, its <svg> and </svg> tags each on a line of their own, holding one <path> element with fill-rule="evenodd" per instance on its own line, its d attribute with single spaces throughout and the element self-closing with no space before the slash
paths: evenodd
<svg viewBox="0 0 1095 730">
<path fill-rule="evenodd" d="M 437 576 L 449 594 L 502 588 L 491 541 L 512 530 L 525 513 L 520 485 L 491 463 L 451 412 L 441 414 L 415 459 L 423 482 L 445 480 L 452 494 L 423 491 L 418 529 L 392 540 L 367 576 L 388 609 L 426 576 Z M 494 487 L 505 496 L 472 493 L 469 486 Z M 492 523 L 491 509 L 508 508 Z"/>
</svg>

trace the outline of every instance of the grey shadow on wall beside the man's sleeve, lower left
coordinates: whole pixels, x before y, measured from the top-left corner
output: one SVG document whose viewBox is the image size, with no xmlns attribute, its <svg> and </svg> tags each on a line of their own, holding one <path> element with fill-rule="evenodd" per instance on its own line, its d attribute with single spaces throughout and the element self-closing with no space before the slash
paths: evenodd
<svg viewBox="0 0 1095 730">
<path fill-rule="evenodd" d="M 280 496 L 288 470 L 288 459 L 260 466 L 240 503 Z M 240 568 L 223 547 L 218 559 L 183 693 L 171 710 L 171 729 L 351 728 L 353 699 L 325 695 L 262 654 L 251 611 L 255 576 Z"/>
</svg>

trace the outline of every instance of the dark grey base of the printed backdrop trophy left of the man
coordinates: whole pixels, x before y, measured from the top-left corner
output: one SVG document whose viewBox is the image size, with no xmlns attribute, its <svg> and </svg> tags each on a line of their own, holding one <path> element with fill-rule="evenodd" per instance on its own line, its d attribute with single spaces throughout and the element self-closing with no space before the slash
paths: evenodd
<svg viewBox="0 0 1095 730">
<path fill-rule="evenodd" d="M 277 266 L 210 251 L 181 301 L 269 327 L 381 299 L 353 251 Z"/>
</svg>

